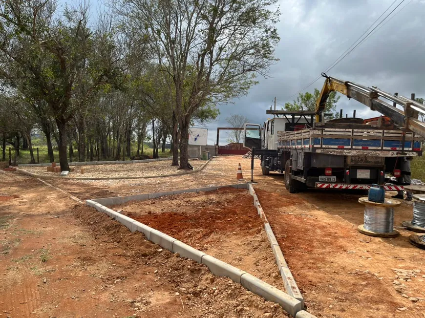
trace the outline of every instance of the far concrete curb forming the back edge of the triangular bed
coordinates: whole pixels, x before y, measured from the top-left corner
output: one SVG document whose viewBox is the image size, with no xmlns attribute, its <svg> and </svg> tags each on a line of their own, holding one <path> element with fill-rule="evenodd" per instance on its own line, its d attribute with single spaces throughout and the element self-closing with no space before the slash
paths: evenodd
<svg viewBox="0 0 425 318">
<path fill-rule="evenodd" d="M 148 199 L 155 199 L 161 196 L 180 194 L 180 193 L 188 193 L 188 192 L 202 192 L 202 191 L 215 191 L 220 188 L 236 188 L 236 189 L 247 189 L 248 183 L 236 183 L 230 185 L 223 186 L 212 186 L 205 188 L 194 188 L 194 189 L 182 189 L 182 190 L 174 190 L 174 191 L 164 191 L 164 192 L 153 192 L 153 193 L 143 193 L 143 194 L 135 194 L 135 195 L 126 195 L 126 196 L 111 196 L 107 198 L 98 198 L 92 199 L 93 201 L 106 205 L 119 205 L 127 203 L 128 201 L 143 201 Z"/>
</svg>

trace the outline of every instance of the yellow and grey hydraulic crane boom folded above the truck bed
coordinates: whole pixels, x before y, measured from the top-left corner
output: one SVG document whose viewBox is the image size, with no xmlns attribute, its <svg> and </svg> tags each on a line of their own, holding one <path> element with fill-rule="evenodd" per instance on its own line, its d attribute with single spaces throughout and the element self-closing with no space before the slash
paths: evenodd
<svg viewBox="0 0 425 318">
<path fill-rule="evenodd" d="M 348 98 L 353 98 L 372 110 L 379 111 L 384 116 L 389 117 L 396 126 L 413 131 L 425 138 L 425 123 L 418 120 L 419 112 L 425 113 L 425 106 L 403 96 L 395 96 L 384 92 L 378 87 L 366 87 L 353 82 L 344 82 L 335 77 L 321 74 L 326 78 L 320 96 L 316 102 L 316 121 L 320 122 L 322 113 L 326 106 L 326 101 L 331 92 L 340 92 Z M 399 109 L 381 98 L 393 102 L 393 105 L 403 106 Z"/>
</svg>

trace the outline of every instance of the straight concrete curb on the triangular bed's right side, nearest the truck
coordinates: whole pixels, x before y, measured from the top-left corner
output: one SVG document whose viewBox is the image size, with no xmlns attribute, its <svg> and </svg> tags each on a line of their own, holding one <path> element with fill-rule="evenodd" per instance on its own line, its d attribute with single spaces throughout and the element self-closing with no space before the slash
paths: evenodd
<svg viewBox="0 0 425 318">
<path fill-rule="evenodd" d="M 282 276 L 282 280 L 283 280 L 283 284 L 285 286 L 286 292 L 288 293 L 288 295 L 299 300 L 302 306 L 304 306 L 304 298 L 302 297 L 302 294 L 299 291 L 299 288 L 294 279 L 294 276 L 292 276 L 291 270 L 289 269 L 288 264 L 286 263 L 282 250 L 279 247 L 279 243 L 276 240 L 276 236 L 273 233 L 273 230 L 269 224 L 269 221 L 267 220 L 267 217 L 266 217 L 266 214 L 264 213 L 263 208 L 261 207 L 260 201 L 258 200 L 258 197 L 255 193 L 255 190 L 252 184 L 248 184 L 248 189 L 251 195 L 253 196 L 254 205 L 257 208 L 258 215 L 260 215 L 260 217 L 263 219 L 264 230 L 267 234 L 270 245 L 273 249 L 273 254 L 275 255 L 277 268 L 279 270 L 280 276 Z"/>
</svg>

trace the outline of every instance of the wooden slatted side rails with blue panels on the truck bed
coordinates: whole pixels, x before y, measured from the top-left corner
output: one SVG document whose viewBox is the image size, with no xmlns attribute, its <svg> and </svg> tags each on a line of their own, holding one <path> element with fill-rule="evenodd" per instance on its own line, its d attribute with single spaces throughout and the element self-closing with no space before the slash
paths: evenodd
<svg viewBox="0 0 425 318">
<path fill-rule="evenodd" d="M 277 131 L 278 148 L 304 149 L 314 152 L 317 149 L 383 151 L 380 156 L 422 155 L 424 138 L 413 132 L 401 130 L 314 128 L 299 131 Z M 404 147 L 403 147 L 404 141 Z M 364 151 L 363 151 L 364 150 Z M 404 151 L 405 154 L 400 153 Z M 341 155 L 345 155 L 342 153 Z M 376 154 L 374 154 L 376 155 Z"/>
</svg>

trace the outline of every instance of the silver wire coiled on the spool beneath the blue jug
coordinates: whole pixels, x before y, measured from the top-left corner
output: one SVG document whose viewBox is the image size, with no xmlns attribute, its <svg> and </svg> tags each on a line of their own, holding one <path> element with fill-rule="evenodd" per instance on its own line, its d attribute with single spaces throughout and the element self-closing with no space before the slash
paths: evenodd
<svg viewBox="0 0 425 318">
<path fill-rule="evenodd" d="M 365 205 L 363 228 L 376 233 L 393 232 L 394 208 Z"/>
</svg>

